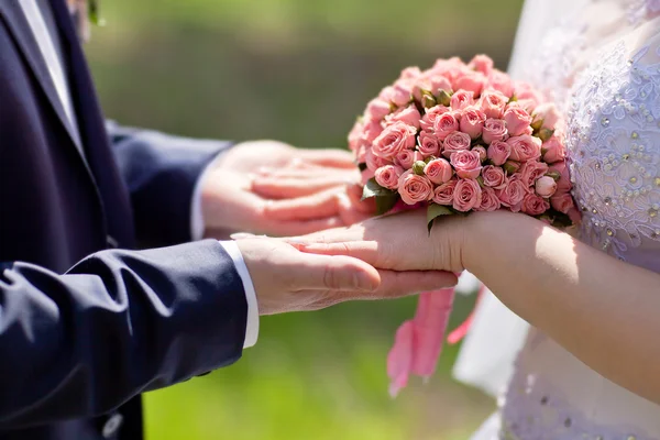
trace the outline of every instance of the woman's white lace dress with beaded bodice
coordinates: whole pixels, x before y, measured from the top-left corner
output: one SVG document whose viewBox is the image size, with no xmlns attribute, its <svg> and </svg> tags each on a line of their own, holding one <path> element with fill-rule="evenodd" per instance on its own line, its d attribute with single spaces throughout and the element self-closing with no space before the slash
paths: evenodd
<svg viewBox="0 0 660 440">
<path fill-rule="evenodd" d="M 552 8 L 546 25 L 524 29 L 526 16 Z M 518 38 L 536 40 L 514 56 L 514 76 L 566 113 L 580 239 L 660 273 L 659 15 L 659 0 L 528 0 Z M 660 440 L 660 406 L 536 329 L 499 404 L 473 439 Z"/>
</svg>

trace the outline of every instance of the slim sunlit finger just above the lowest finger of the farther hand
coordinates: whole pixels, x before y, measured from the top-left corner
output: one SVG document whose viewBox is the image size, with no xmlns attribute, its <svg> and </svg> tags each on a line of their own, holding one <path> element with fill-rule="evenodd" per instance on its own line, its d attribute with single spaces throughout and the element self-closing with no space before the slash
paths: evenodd
<svg viewBox="0 0 660 440">
<path fill-rule="evenodd" d="M 309 196 L 329 188 L 352 184 L 345 175 L 332 174 L 309 179 L 255 176 L 252 193 L 267 199 L 290 199 Z"/>
</svg>

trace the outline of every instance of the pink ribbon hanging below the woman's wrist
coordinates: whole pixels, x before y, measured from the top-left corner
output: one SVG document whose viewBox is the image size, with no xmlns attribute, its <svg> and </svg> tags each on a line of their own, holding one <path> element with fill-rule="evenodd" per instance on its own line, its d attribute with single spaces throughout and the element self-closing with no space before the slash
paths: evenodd
<svg viewBox="0 0 660 440">
<path fill-rule="evenodd" d="M 484 290 L 485 287 L 482 285 L 477 301 Z M 453 288 L 422 293 L 419 295 L 415 317 L 405 321 L 396 331 L 394 345 L 387 354 L 387 375 L 392 397 L 396 397 L 408 385 L 410 374 L 421 376 L 426 382 L 436 372 L 454 295 Z M 474 310 L 449 334 L 448 342 L 451 344 L 460 342 L 470 330 L 473 318 Z"/>
</svg>

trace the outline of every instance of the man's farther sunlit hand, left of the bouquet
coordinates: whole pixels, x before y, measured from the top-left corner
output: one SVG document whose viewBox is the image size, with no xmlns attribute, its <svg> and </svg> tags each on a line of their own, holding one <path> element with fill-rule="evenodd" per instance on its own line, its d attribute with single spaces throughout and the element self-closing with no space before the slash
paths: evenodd
<svg viewBox="0 0 660 440">
<path fill-rule="evenodd" d="M 354 190 L 346 190 L 358 179 L 345 151 L 295 148 L 275 141 L 235 145 L 204 183 L 207 235 L 298 235 L 353 223 L 370 211 Z"/>
</svg>

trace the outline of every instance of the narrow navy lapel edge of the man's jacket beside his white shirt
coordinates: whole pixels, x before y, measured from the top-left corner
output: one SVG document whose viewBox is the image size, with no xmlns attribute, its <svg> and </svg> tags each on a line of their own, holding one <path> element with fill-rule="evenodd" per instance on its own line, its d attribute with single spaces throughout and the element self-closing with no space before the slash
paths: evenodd
<svg viewBox="0 0 660 440">
<path fill-rule="evenodd" d="M 25 57 L 25 61 L 34 74 L 36 81 L 46 96 L 51 107 L 57 114 L 57 118 L 65 127 L 81 158 L 85 161 L 85 157 L 81 154 L 82 146 L 80 145 L 79 138 L 74 133 L 74 129 L 66 117 L 64 107 L 59 100 L 59 96 L 57 95 L 57 90 L 53 84 L 53 79 L 51 78 L 46 62 L 44 61 L 41 50 L 38 48 L 38 44 L 34 38 L 30 23 L 28 23 L 28 19 L 23 14 L 23 10 L 19 4 L 19 0 L 0 0 L 0 16 L 4 18 L 4 22 L 12 33 L 16 45 Z"/>
</svg>

